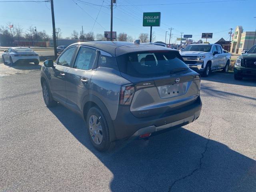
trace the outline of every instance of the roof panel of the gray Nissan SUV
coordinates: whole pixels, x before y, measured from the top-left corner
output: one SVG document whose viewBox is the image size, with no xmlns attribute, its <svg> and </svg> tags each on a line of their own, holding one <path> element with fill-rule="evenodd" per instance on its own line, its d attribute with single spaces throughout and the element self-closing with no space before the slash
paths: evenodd
<svg viewBox="0 0 256 192">
<path fill-rule="evenodd" d="M 136 44 L 133 42 L 123 42 L 123 41 L 90 41 L 90 42 L 78 42 L 71 44 L 70 46 L 74 45 L 84 45 L 90 46 L 96 49 L 100 49 L 105 51 L 112 56 L 120 56 L 123 54 L 127 54 L 130 52 L 137 52 L 137 51 L 153 51 L 153 50 L 172 50 L 170 48 L 157 46 L 154 44 Z"/>
</svg>

